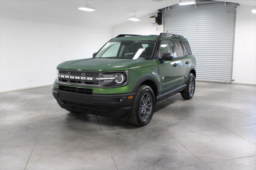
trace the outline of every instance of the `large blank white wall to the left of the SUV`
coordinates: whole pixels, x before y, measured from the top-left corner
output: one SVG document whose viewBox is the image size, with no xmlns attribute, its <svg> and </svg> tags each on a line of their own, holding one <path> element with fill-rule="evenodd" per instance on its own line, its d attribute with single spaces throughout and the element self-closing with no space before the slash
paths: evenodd
<svg viewBox="0 0 256 170">
<path fill-rule="evenodd" d="M 56 66 L 92 57 L 112 30 L 0 18 L 0 92 L 50 85 Z"/>
</svg>

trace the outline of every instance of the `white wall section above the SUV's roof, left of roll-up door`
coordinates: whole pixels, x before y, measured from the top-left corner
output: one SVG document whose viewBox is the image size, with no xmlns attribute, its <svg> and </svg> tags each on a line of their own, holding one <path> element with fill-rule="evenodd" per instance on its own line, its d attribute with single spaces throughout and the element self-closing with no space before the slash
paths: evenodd
<svg viewBox="0 0 256 170">
<path fill-rule="evenodd" d="M 154 18 L 149 18 L 153 15 L 157 16 L 157 13 L 140 18 L 138 22 L 128 21 L 114 26 L 112 31 L 113 37 L 119 34 L 159 35 L 163 32 L 163 27 L 157 26 L 158 30 L 156 30 L 156 25 L 153 24 L 155 22 Z"/>
</svg>

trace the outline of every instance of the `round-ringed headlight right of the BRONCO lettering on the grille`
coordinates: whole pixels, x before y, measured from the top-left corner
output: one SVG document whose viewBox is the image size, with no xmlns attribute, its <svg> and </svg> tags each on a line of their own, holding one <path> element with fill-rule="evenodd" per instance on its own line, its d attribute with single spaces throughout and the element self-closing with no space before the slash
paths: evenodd
<svg viewBox="0 0 256 170">
<path fill-rule="evenodd" d="M 124 73 L 104 73 L 99 78 L 100 83 L 104 86 L 122 85 L 126 82 L 126 75 Z"/>
</svg>

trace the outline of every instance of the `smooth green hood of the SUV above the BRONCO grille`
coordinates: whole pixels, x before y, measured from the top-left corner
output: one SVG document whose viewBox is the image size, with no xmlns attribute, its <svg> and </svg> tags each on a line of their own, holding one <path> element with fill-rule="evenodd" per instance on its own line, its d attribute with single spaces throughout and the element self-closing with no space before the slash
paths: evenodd
<svg viewBox="0 0 256 170">
<path fill-rule="evenodd" d="M 79 71 L 124 71 L 154 65 L 152 59 L 88 58 L 60 63 L 57 69 Z"/>
</svg>

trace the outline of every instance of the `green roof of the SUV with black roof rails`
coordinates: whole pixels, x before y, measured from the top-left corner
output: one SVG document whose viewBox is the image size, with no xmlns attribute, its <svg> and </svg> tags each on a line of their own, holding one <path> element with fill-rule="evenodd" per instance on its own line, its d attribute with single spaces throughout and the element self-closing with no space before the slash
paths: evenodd
<svg viewBox="0 0 256 170">
<path fill-rule="evenodd" d="M 123 36 L 112 38 L 110 41 L 156 41 L 159 35 L 149 35 L 149 36 Z M 161 36 L 160 40 L 182 40 L 183 42 L 188 42 L 186 38 L 180 36 Z"/>
</svg>

